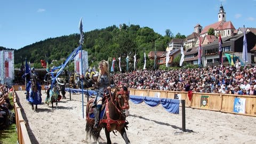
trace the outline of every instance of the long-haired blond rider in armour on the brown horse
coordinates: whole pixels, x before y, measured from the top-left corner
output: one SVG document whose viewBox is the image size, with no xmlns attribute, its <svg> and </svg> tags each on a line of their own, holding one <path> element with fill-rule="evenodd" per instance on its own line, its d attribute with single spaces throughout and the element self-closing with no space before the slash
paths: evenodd
<svg viewBox="0 0 256 144">
<path fill-rule="evenodd" d="M 94 129 L 97 129 L 100 121 L 100 113 L 102 107 L 102 98 L 104 94 L 108 94 L 109 90 L 115 86 L 113 79 L 109 75 L 109 64 L 106 60 L 99 62 L 99 74 L 93 76 L 95 81 L 95 91 L 97 95 L 93 102 L 94 108 Z"/>
</svg>

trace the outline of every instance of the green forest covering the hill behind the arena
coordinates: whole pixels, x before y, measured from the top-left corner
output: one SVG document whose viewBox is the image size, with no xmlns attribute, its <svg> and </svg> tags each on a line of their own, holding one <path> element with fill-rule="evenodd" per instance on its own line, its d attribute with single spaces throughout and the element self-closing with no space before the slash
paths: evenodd
<svg viewBox="0 0 256 144">
<path fill-rule="evenodd" d="M 88 52 L 89 66 L 95 66 L 100 60 L 108 60 L 121 57 L 122 69 L 126 67 L 125 58 L 127 54 L 130 61 L 133 55 L 137 55 L 137 67 L 142 69 L 144 63 L 144 52 L 146 55 L 150 51 L 165 51 L 167 43 L 172 38 L 186 38 L 180 33 L 172 34 L 170 29 L 166 29 L 162 36 L 149 27 L 139 25 L 127 26 L 125 23 L 119 27 L 113 25 L 107 28 L 95 29 L 84 33 L 83 50 Z M 19 50 L 14 50 L 15 68 L 20 68 L 22 62 L 27 60 L 35 68 L 42 68 L 41 60 L 49 61 L 51 66 L 59 66 L 66 60 L 68 55 L 79 46 L 79 34 L 70 34 L 55 38 L 47 38 L 36 42 Z M 1 47 L 0 47 L 1 48 Z M 2 47 L 4 49 L 4 47 Z M 153 68 L 153 61 L 147 59 L 147 68 Z M 131 62 L 132 63 L 132 62 Z M 70 65 L 72 65 L 70 63 Z M 73 64 L 74 65 L 74 64 Z M 132 65 L 132 64 L 131 64 Z M 72 66 L 70 66 L 72 67 Z"/>
</svg>

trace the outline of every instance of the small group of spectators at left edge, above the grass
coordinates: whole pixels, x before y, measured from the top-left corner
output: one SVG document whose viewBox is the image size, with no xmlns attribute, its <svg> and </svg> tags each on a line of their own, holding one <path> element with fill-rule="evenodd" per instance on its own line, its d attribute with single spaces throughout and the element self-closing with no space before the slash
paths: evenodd
<svg viewBox="0 0 256 144">
<path fill-rule="evenodd" d="M 7 85 L 0 84 L 0 130 L 6 129 L 11 123 L 14 123 L 14 113 L 11 111 L 13 106 L 10 103 Z"/>
</svg>

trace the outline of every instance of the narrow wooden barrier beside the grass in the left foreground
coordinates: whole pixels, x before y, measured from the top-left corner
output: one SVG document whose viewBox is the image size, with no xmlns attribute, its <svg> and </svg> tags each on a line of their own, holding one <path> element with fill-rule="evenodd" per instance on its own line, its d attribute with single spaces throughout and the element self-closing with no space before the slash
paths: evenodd
<svg viewBox="0 0 256 144">
<path fill-rule="evenodd" d="M 12 97 L 13 97 L 13 105 L 14 105 L 14 113 L 15 113 L 15 122 L 16 122 L 16 132 L 18 135 L 18 142 L 19 144 L 30 144 L 30 138 L 28 135 L 26 122 L 24 121 L 22 114 L 21 114 L 21 108 L 19 107 L 17 103 L 17 93 L 13 88 Z"/>
</svg>

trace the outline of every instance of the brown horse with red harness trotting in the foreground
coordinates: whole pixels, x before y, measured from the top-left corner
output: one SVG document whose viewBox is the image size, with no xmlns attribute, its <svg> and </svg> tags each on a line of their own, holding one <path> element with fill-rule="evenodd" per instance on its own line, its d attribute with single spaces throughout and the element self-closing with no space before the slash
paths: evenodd
<svg viewBox="0 0 256 144">
<path fill-rule="evenodd" d="M 105 105 L 105 110 L 103 111 L 103 118 L 100 119 L 100 124 L 97 129 L 94 129 L 94 118 L 92 118 L 93 114 L 93 101 L 94 99 L 90 99 L 86 106 L 86 137 L 85 140 L 87 141 L 88 134 L 90 138 L 93 137 L 94 140 L 101 138 L 100 131 L 102 128 L 105 129 L 105 134 L 107 138 L 107 143 L 111 143 L 110 140 L 110 132 L 114 130 L 118 131 L 122 138 L 124 139 L 125 143 L 130 143 L 130 140 L 127 138 L 127 134 L 125 129 L 127 129 L 128 122 L 126 121 L 126 116 L 129 115 L 129 93 L 125 86 L 118 87 L 115 86 L 115 91 L 111 94 L 109 90 L 109 94 L 103 95 L 103 101 Z M 103 107 L 102 107 L 103 109 Z M 116 135 L 116 134 L 115 134 Z"/>
</svg>

